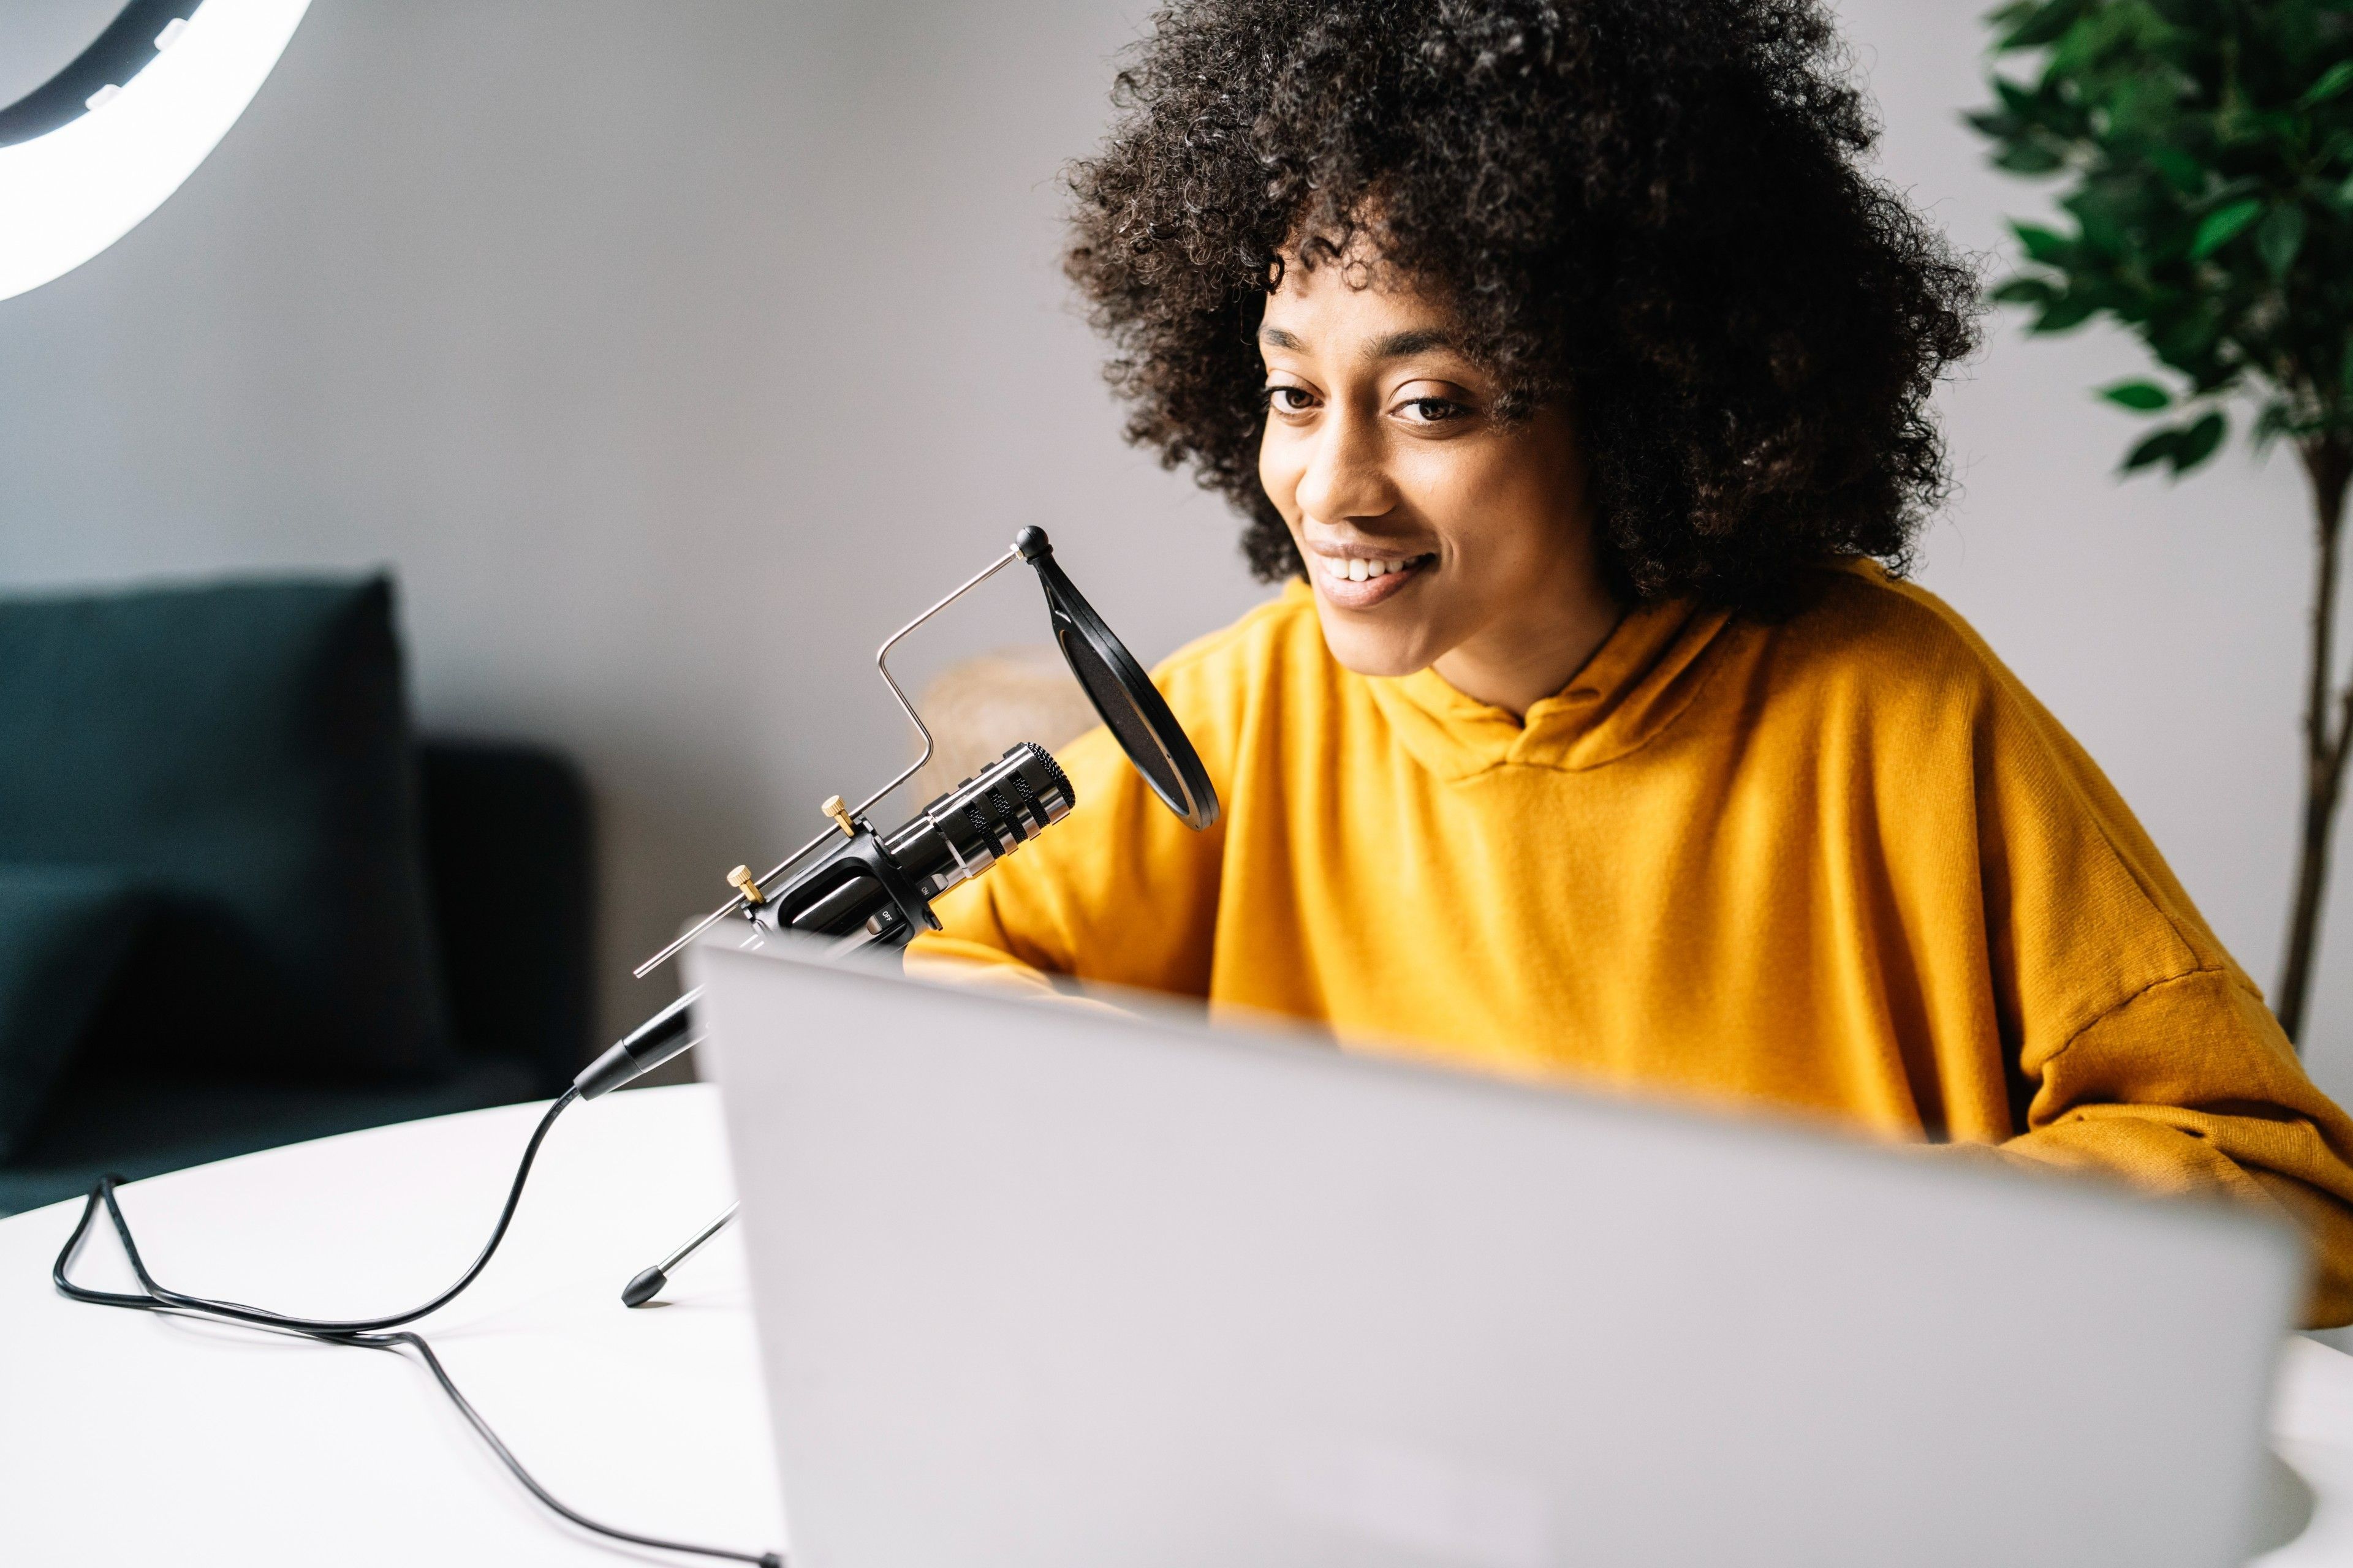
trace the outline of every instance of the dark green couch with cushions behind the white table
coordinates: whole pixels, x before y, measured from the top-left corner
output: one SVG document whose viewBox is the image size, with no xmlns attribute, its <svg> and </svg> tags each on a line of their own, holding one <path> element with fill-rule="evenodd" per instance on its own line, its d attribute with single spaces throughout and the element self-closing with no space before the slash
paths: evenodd
<svg viewBox="0 0 2353 1568">
<path fill-rule="evenodd" d="M 409 738 L 381 578 L 0 599 L 0 1213 L 558 1093 L 591 905 L 569 762 Z"/>
</svg>

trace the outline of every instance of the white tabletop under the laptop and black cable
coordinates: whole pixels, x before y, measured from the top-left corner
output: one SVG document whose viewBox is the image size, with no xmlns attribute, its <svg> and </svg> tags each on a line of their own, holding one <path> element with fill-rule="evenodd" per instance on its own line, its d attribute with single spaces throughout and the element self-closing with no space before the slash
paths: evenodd
<svg viewBox="0 0 2353 1568">
<path fill-rule="evenodd" d="M 473 1258 L 539 1110 L 247 1154 L 127 1187 L 122 1208 L 176 1288 L 306 1314 L 398 1309 Z M 654 1535 L 784 1547 L 734 1232 L 680 1267 L 671 1305 L 619 1302 L 631 1274 L 725 1208 L 720 1138 L 701 1086 L 572 1107 L 499 1260 L 421 1331 L 558 1497 Z M 59 1298 L 49 1260 L 78 1211 L 0 1220 L 0 1559 L 687 1561 L 555 1526 L 414 1361 Z M 113 1232 L 75 1276 L 129 1286 Z M 2259 1561 L 2353 1563 L 2353 1356 L 2292 1340 L 2275 1432 L 2315 1507 Z"/>
</svg>

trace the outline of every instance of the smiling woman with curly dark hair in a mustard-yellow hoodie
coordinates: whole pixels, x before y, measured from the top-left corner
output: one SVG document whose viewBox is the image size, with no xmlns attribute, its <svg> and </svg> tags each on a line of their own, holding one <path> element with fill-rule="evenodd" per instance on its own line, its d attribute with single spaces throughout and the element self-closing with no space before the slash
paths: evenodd
<svg viewBox="0 0 2353 1568">
<path fill-rule="evenodd" d="M 1969 273 L 1809 0 L 1195 0 L 1075 172 L 1129 435 L 1282 597 L 925 957 L 2285 1213 L 2353 1124 L 2108 780 L 1901 581 Z"/>
</svg>

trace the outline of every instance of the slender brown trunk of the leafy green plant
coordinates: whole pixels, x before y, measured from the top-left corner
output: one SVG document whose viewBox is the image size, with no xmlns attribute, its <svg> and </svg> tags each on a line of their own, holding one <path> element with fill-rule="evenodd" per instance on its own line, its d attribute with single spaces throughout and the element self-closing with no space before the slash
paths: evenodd
<svg viewBox="0 0 2353 1568">
<path fill-rule="evenodd" d="M 2297 851 L 2297 898 L 2287 917 L 2287 957 L 2273 1011 L 2287 1039 L 2304 1032 L 2304 1009 L 2313 992 L 2313 954 L 2320 945 L 2320 905 L 2329 891 L 2329 835 L 2344 795 L 2346 743 L 2353 738 L 2353 684 L 2334 691 L 2337 578 L 2344 548 L 2346 482 L 2353 480 L 2353 444 L 2322 437 L 2301 447 L 2304 475 L 2313 487 L 2313 585 L 2311 670 L 2304 684 L 2304 830 Z"/>
</svg>

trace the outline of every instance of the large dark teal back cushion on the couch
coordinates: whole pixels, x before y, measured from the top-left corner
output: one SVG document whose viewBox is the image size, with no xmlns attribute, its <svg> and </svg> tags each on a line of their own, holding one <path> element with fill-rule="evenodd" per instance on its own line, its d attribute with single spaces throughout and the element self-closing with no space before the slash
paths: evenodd
<svg viewBox="0 0 2353 1568">
<path fill-rule="evenodd" d="M 447 1070 L 391 583 L 0 599 L 0 860 L 148 893 L 89 1051 Z"/>
</svg>

